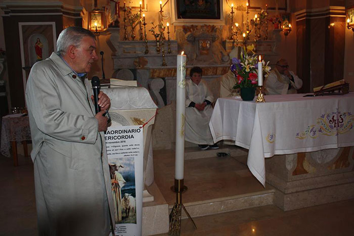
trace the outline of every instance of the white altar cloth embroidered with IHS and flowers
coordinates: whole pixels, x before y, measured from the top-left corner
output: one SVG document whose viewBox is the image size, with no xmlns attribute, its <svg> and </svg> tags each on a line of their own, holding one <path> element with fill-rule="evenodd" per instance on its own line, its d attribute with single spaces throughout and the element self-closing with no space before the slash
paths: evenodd
<svg viewBox="0 0 354 236">
<path fill-rule="evenodd" d="M 269 95 L 265 103 L 219 98 L 210 118 L 214 142 L 249 150 L 247 165 L 265 185 L 264 158 L 354 146 L 354 92 L 343 96 Z"/>
</svg>

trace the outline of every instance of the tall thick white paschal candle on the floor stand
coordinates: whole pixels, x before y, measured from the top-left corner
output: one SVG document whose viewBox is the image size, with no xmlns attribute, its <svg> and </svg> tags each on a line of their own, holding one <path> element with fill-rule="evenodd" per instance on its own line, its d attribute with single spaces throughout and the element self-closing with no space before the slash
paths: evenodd
<svg viewBox="0 0 354 236">
<path fill-rule="evenodd" d="M 183 179 L 185 165 L 185 118 L 186 118 L 186 59 L 177 55 L 176 79 L 176 154 L 174 178 Z"/>
</svg>

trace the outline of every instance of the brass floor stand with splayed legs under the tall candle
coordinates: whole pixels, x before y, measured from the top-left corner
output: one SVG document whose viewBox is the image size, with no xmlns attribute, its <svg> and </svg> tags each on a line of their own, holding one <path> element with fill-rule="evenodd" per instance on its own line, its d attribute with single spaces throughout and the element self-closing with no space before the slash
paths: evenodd
<svg viewBox="0 0 354 236">
<path fill-rule="evenodd" d="M 188 190 L 187 186 L 184 185 L 184 179 L 174 179 L 174 186 L 171 186 L 171 190 L 176 193 L 176 202 L 174 203 L 172 211 L 169 214 L 168 234 L 181 235 L 182 208 L 186 212 L 186 215 L 192 222 L 194 228 L 197 229 L 194 220 L 182 203 L 182 193 Z"/>
</svg>

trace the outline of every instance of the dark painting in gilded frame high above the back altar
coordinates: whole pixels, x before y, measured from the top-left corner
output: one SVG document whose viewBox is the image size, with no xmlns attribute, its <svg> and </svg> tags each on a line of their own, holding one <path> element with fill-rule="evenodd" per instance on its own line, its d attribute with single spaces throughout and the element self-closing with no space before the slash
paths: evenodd
<svg viewBox="0 0 354 236">
<path fill-rule="evenodd" d="M 224 0 L 172 0 L 174 25 L 218 25 L 224 22 Z"/>
</svg>

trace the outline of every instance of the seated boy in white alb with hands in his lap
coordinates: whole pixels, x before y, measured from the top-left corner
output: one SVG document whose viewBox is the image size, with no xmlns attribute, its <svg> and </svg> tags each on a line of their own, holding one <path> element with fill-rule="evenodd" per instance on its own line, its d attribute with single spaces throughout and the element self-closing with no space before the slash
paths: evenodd
<svg viewBox="0 0 354 236">
<path fill-rule="evenodd" d="M 186 133 L 185 139 L 198 144 L 202 150 L 218 149 L 212 139 L 209 121 L 212 113 L 213 96 L 205 81 L 202 69 L 193 67 L 191 79 L 186 81 Z"/>
</svg>

